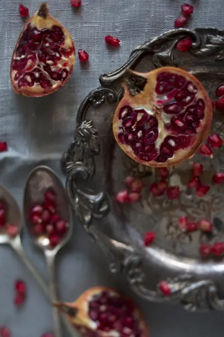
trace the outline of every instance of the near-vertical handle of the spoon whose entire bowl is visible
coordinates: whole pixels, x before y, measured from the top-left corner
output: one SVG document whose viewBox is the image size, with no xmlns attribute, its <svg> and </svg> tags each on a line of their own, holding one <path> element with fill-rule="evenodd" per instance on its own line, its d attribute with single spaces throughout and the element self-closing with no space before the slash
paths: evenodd
<svg viewBox="0 0 224 337">
<path fill-rule="evenodd" d="M 49 274 L 49 290 L 51 299 L 54 302 L 57 302 L 57 291 L 56 291 L 56 281 L 55 281 L 55 252 L 51 250 L 45 250 L 45 259 L 46 265 Z M 53 308 L 53 319 L 55 327 L 55 337 L 62 337 L 61 333 L 61 324 L 60 324 L 60 313 L 59 310 Z"/>
</svg>

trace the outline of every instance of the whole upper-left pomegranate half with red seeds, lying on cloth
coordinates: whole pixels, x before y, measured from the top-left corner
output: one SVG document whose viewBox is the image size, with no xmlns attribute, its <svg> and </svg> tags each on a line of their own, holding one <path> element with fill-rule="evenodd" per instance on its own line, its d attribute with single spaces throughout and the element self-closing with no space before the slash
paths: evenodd
<svg viewBox="0 0 224 337">
<path fill-rule="evenodd" d="M 42 3 L 16 43 L 10 68 L 12 88 L 24 96 L 49 95 L 67 82 L 74 60 L 71 35 Z"/>
</svg>

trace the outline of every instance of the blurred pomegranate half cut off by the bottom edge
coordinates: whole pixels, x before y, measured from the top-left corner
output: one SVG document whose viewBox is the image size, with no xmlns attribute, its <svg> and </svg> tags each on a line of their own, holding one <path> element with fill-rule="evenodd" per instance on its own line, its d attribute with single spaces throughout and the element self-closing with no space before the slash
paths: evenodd
<svg viewBox="0 0 224 337">
<path fill-rule="evenodd" d="M 136 304 L 114 289 L 97 286 L 73 303 L 55 303 L 84 337 L 148 337 L 148 328 Z"/>
</svg>

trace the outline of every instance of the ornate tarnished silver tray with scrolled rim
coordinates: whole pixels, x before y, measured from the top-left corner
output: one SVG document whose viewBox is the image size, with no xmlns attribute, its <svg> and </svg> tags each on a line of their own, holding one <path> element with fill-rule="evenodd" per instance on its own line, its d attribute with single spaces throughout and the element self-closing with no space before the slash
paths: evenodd
<svg viewBox="0 0 224 337">
<path fill-rule="evenodd" d="M 190 52 L 180 53 L 177 41 L 191 36 Z M 157 302 L 181 303 L 187 310 L 224 310 L 224 260 L 203 261 L 201 243 L 224 241 L 224 186 L 211 186 L 198 198 L 186 189 L 192 161 L 172 171 L 171 180 L 183 190 L 178 200 L 154 198 L 149 185 L 155 171 L 138 165 L 115 144 L 112 117 L 123 90 L 120 83 L 125 70 L 147 72 L 164 65 L 179 66 L 193 73 L 204 84 L 210 97 L 224 83 L 224 31 L 218 29 L 171 30 L 151 39 L 131 53 L 119 69 L 100 76 L 101 87 L 82 102 L 77 114 L 74 141 L 64 154 L 62 165 L 67 175 L 66 188 L 71 205 L 86 232 L 107 254 L 113 273 L 124 273 L 131 288 L 141 297 Z M 214 113 L 213 129 L 221 137 L 224 115 Z M 195 155 L 203 162 L 204 182 L 224 170 L 222 150 L 213 160 Z M 127 175 L 144 182 L 143 197 L 132 205 L 120 205 L 114 195 L 124 188 Z M 212 235 L 183 233 L 177 219 L 183 213 L 191 219 L 207 218 L 215 226 Z M 156 244 L 146 248 L 144 233 L 154 230 Z M 167 280 L 169 297 L 163 296 L 158 283 Z"/>
</svg>

